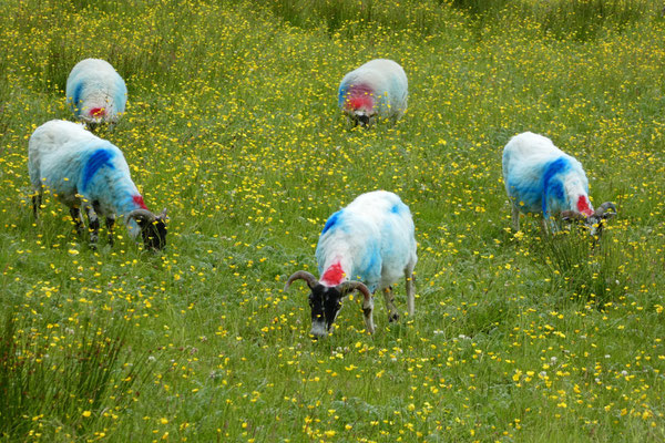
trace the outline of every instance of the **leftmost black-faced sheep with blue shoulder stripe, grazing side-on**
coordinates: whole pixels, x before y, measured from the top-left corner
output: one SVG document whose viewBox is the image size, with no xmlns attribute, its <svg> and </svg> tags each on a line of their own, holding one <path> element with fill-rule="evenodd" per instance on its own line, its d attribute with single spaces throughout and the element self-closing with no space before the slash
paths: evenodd
<svg viewBox="0 0 665 443">
<path fill-rule="evenodd" d="M 115 214 L 124 216 L 132 238 L 141 233 L 146 249 L 166 245 L 166 209 L 160 215 L 147 210 L 122 152 L 82 124 L 52 120 L 34 130 L 28 143 L 28 169 L 35 218 L 43 189 L 49 187 L 70 208 L 79 234 L 83 230 L 80 209 L 88 214 L 93 248 L 100 227 L 98 215 L 106 217 L 109 241 L 113 244 Z"/>
</svg>

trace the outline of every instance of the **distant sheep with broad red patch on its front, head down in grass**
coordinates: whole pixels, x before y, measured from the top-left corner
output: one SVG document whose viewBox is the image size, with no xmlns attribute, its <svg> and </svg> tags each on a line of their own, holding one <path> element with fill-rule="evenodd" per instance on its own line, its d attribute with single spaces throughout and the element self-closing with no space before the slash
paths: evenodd
<svg viewBox="0 0 665 443">
<path fill-rule="evenodd" d="M 392 60 L 377 59 L 344 76 L 338 105 L 354 126 L 369 126 L 377 115 L 397 122 L 407 111 L 408 90 L 405 70 Z"/>
</svg>

